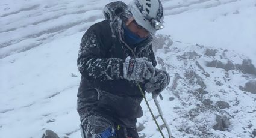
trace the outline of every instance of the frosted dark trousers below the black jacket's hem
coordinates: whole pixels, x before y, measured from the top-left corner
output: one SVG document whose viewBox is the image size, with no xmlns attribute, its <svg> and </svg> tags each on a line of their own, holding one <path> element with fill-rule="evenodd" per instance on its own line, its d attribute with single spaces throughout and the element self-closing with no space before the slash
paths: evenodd
<svg viewBox="0 0 256 138">
<path fill-rule="evenodd" d="M 114 122 L 111 122 L 104 116 L 87 116 L 81 122 L 81 134 L 84 138 L 101 138 L 99 134 L 103 133 L 108 128 L 113 128 L 115 133 L 115 136 L 109 138 L 139 138 L 136 128 L 126 128 L 114 124 Z"/>
</svg>

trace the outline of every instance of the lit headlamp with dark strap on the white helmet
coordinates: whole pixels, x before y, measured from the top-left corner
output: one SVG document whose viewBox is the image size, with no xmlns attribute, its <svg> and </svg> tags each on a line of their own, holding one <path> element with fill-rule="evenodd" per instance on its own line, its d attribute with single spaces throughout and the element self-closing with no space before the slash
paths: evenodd
<svg viewBox="0 0 256 138">
<path fill-rule="evenodd" d="M 163 23 L 161 23 L 160 20 L 158 19 L 159 16 L 158 16 L 158 18 L 150 17 L 148 14 L 146 14 L 146 11 L 143 10 L 142 5 L 140 5 L 139 1 L 135 1 L 135 4 L 136 4 L 137 8 L 140 10 L 140 13 L 142 13 L 143 17 L 150 22 L 150 24 L 153 28 L 155 28 L 156 30 L 160 30 L 160 29 L 164 28 Z M 163 14 L 163 11 L 158 10 L 158 13 Z M 161 15 L 161 16 L 163 16 L 163 15 Z"/>
</svg>

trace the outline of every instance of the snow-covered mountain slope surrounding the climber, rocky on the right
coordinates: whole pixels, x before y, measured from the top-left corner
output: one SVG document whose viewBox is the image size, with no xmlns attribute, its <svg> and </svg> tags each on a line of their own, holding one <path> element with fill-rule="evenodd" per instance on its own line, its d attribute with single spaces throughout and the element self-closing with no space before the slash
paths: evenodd
<svg viewBox="0 0 256 138">
<path fill-rule="evenodd" d="M 102 8 L 108 2 L 0 1 L 0 137 L 41 137 L 45 129 L 60 137 L 80 137 L 78 47 L 86 29 L 104 20 Z M 247 58 L 256 65 L 256 1 L 165 0 L 163 5 L 166 28 L 159 33 L 170 35 L 173 44 L 157 49 L 156 56 L 158 67 L 173 79 L 160 101 L 173 135 L 252 137 L 256 95 L 241 87 L 256 73 L 239 65 Z M 206 54 L 207 49 L 214 55 Z M 230 61 L 234 68 L 213 67 L 214 60 Z M 157 115 L 149 94 L 148 100 Z M 218 101 L 230 107 L 220 109 Z M 142 106 L 145 116 L 138 122 L 145 128 L 140 136 L 161 137 Z M 225 131 L 213 129 L 216 115 L 229 118 Z"/>
</svg>

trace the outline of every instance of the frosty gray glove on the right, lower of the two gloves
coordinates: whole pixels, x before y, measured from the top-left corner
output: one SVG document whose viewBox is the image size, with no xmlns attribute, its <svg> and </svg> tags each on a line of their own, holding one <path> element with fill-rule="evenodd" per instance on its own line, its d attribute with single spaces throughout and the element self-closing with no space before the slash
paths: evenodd
<svg viewBox="0 0 256 138">
<path fill-rule="evenodd" d="M 155 70 L 155 76 L 149 79 L 149 82 L 146 83 L 146 92 L 152 92 L 153 96 L 158 96 L 161 91 L 166 88 L 170 83 L 170 76 L 166 71 Z"/>
</svg>

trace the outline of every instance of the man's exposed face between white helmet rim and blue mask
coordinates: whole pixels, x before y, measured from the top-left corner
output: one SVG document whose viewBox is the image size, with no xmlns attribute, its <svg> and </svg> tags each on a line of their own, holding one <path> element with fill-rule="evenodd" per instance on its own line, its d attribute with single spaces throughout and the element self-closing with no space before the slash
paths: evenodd
<svg viewBox="0 0 256 138">
<path fill-rule="evenodd" d="M 140 38 L 146 38 L 149 35 L 149 32 L 146 31 L 146 29 L 144 29 L 142 26 L 138 25 L 134 19 L 129 19 L 126 22 L 126 26 L 131 32 L 139 35 Z"/>
</svg>

